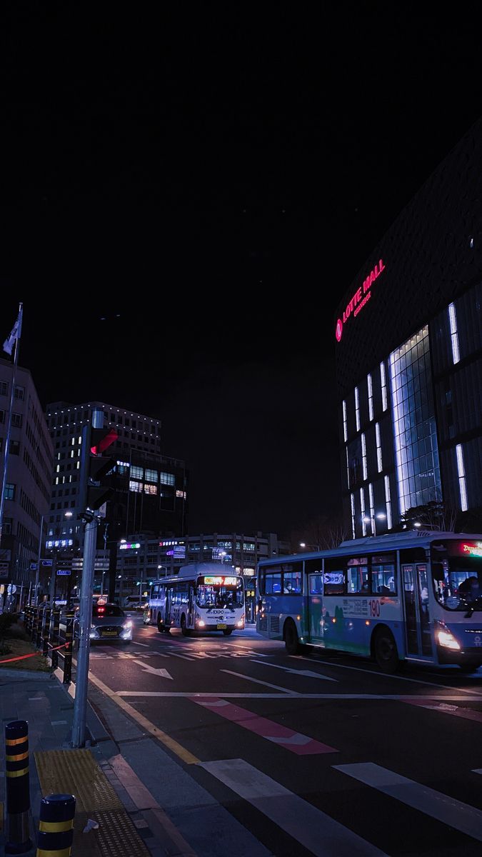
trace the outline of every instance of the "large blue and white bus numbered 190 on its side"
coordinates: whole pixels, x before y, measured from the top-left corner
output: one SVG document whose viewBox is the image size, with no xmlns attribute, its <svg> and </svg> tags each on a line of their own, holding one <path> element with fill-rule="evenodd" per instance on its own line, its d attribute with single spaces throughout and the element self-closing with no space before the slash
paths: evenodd
<svg viewBox="0 0 482 857">
<path fill-rule="evenodd" d="M 401 661 L 482 665 L 482 536 L 369 536 L 258 564 L 256 629 L 303 644 Z"/>
</svg>

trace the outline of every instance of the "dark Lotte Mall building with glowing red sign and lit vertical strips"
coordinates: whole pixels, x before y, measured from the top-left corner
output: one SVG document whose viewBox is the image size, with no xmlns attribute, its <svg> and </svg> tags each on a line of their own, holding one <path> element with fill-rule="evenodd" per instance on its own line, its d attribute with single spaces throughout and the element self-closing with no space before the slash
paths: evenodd
<svg viewBox="0 0 482 857">
<path fill-rule="evenodd" d="M 482 119 L 373 249 L 334 319 L 353 538 L 431 501 L 458 530 L 480 522 L 481 281 Z"/>
</svg>

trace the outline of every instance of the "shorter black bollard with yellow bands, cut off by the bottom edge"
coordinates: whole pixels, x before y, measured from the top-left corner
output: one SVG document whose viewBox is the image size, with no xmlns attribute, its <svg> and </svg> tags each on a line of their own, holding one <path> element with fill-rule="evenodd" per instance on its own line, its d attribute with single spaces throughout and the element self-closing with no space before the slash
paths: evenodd
<svg viewBox="0 0 482 857">
<path fill-rule="evenodd" d="M 74 838 L 75 797 L 47 794 L 40 801 L 37 857 L 69 857 Z"/>
</svg>

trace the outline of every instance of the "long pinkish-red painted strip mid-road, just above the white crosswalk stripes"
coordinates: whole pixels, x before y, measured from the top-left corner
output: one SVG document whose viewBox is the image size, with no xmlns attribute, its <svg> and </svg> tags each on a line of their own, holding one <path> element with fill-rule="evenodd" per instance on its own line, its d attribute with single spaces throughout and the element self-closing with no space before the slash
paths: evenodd
<svg viewBox="0 0 482 857">
<path fill-rule="evenodd" d="M 202 705 L 204 708 L 215 708 L 215 713 L 220 717 L 225 717 L 238 726 L 244 729 L 249 729 L 259 735 L 260 738 L 265 738 L 268 741 L 273 741 L 275 744 L 284 746 L 286 750 L 297 753 L 298 756 L 309 756 L 324 752 L 339 752 L 335 747 L 328 744 L 322 744 L 320 741 L 310 738 L 309 735 L 304 735 L 300 732 L 295 732 L 286 726 L 281 726 L 274 720 L 268 720 L 267 717 L 260 717 L 245 708 L 238 708 L 237 705 L 226 702 L 225 699 L 192 697 L 192 702 Z"/>
</svg>

